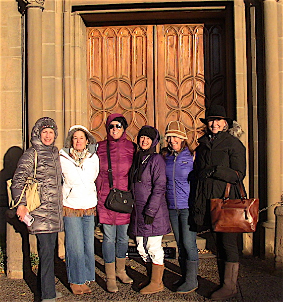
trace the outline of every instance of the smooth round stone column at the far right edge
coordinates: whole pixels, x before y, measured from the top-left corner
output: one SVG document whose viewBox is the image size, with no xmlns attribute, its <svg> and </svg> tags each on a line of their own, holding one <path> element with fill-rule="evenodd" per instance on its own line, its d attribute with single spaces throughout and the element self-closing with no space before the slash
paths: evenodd
<svg viewBox="0 0 283 302">
<path fill-rule="evenodd" d="M 267 205 L 280 201 L 280 104 L 278 69 L 277 2 L 263 1 L 266 90 L 266 154 L 267 154 Z M 265 256 L 274 257 L 274 207 L 267 210 Z"/>
</svg>

